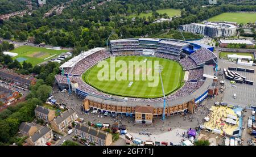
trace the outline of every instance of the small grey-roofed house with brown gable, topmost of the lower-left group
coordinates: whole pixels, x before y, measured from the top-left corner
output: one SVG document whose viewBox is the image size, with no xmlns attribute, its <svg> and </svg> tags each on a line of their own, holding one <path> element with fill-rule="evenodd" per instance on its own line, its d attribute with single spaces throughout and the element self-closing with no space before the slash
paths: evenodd
<svg viewBox="0 0 256 157">
<path fill-rule="evenodd" d="M 36 118 L 42 119 L 45 122 L 51 122 L 55 118 L 55 111 L 36 105 L 35 116 Z"/>
</svg>

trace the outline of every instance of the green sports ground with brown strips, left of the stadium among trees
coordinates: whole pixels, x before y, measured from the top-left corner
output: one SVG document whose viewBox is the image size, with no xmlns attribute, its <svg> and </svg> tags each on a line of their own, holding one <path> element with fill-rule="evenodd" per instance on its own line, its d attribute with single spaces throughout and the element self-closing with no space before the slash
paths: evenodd
<svg viewBox="0 0 256 157">
<path fill-rule="evenodd" d="M 13 59 L 19 62 L 29 62 L 33 66 L 44 61 L 51 60 L 53 57 L 57 57 L 59 54 L 68 52 L 68 50 L 52 50 L 47 48 L 39 48 L 34 46 L 19 46 L 10 52 L 18 53 L 18 56 Z"/>
</svg>

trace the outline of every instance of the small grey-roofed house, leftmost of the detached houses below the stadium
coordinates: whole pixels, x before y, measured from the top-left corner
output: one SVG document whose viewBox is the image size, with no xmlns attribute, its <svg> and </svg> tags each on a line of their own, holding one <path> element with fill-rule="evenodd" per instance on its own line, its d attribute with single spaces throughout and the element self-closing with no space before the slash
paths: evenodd
<svg viewBox="0 0 256 157">
<path fill-rule="evenodd" d="M 22 135 L 31 137 L 38 131 L 38 128 L 32 123 L 22 122 L 22 124 L 19 125 L 19 131 Z"/>
</svg>

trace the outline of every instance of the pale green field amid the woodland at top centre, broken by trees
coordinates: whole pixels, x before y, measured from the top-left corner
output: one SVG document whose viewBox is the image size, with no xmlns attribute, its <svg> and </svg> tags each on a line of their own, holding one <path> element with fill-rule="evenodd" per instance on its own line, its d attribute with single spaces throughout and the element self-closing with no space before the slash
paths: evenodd
<svg viewBox="0 0 256 157">
<path fill-rule="evenodd" d="M 170 18 L 175 16 L 175 15 L 177 16 L 177 15 L 181 14 L 180 13 L 181 11 L 178 10 L 178 9 L 161 9 L 161 10 L 157 10 L 156 12 L 158 12 L 159 14 L 166 13 Z M 139 18 L 143 18 L 143 16 L 145 16 L 146 19 L 147 19 L 147 17 L 151 16 L 151 15 L 152 15 L 152 12 L 148 12 L 148 13 L 141 13 L 139 15 L 131 14 L 128 17 L 129 18 L 134 18 L 134 17 L 138 16 Z"/>
</svg>

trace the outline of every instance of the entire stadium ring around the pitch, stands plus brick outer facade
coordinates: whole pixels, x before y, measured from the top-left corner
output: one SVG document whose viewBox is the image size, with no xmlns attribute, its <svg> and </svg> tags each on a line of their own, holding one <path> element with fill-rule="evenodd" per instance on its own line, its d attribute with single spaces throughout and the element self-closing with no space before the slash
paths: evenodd
<svg viewBox="0 0 256 157">
<path fill-rule="evenodd" d="M 167 116 L 179 112 L 193 113 L 195 104 L 208 96 L 209 88 L 214 83 L 214 65 L 217 56 L 203 45 L 173 39 L 120 39 L 110 41 L 110 50 L 95 48 L 81 53 L 60 66 L 63 75 L 56 75 L 60 90 L 68 89 L 84 97 L 84 109 L 97 109 L 103 112 L 122 113 L 135 116 L 141 123 L 151 123 L 152 117 L 163 114 L 163 97 L 143 99 L 141 97 L 122 97 L 101 92 L 82 80 L 82 74 L 96 63 L 112 56 L 147 56 L 166 58 L 178 62 L 188 77 L 184 85 L 166 96 Z M 214 60 L 214 61 L 213 61 Z M 67 79 L 68 75 L 68 79 Z M 136 111 L 142 106 L 146 111 L 146 120 L 139 116 L 144 113 Z"/>
</svg>

